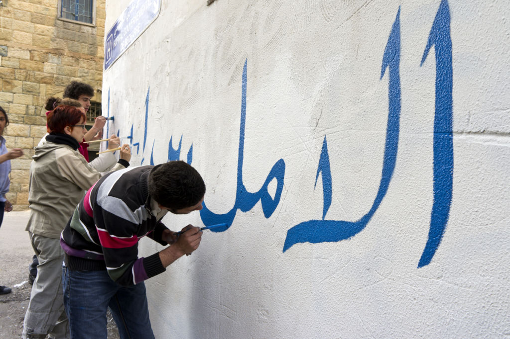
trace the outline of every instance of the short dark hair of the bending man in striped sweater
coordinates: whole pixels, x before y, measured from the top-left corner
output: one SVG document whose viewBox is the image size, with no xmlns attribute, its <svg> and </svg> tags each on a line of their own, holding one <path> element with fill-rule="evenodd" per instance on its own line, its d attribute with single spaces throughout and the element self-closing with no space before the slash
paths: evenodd
<svg viewBox="0 0 510 339">
<path fill-rule="evenodd" d="M 172 209 L 195 206 L 206 194 L 206 184 L 191 165 L 182 160 L 157 165 L 149 174 L 149 195 Z"/>
</svg>

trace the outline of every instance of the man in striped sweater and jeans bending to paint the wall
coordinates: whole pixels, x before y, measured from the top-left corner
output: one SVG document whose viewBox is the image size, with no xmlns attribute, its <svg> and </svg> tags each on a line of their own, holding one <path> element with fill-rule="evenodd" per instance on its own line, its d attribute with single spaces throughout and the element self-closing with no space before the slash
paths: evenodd
<svg viewBox="0 0 510 339">
<path fill-rule="evenodd" d="M 160 221 L 168 212 L 202 209 L 206 186 L 184 161 L 126 168 L 85 194 L 62 232 L 64 305 L 71 337 L 107 337 L 110 307 L 122 338 L 154 338 L 144 280 L 198 248 L 202 232 L 187 225 L 176 236 Z M 171 246 L 138 257 L 143 236 Z"/>
</svg>

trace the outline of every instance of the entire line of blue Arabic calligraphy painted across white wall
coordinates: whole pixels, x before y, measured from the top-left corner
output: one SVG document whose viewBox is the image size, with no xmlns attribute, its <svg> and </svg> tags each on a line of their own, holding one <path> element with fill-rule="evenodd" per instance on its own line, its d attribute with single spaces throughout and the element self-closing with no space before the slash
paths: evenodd
<svg viewBox="0 0 510 339">
<path fill-rule="evenodd" d="M 388 81 L 388 121 L 386 128 L 386 140 L 384 148 L 384 157 L 381 167 L 381 179 L 377 193 L 374 197 L 371 208 L 360 219 L 355 221 L 348 220 L 328 220 L 327 212 L 331 205 L 331 196 L 333 194 L 333 174 L 330 170 L 330 155 L 327 147 L 327 135 L 324 135 L 320 160 L 315 177 L 315 185 L 319 175 L 322 181 L 323 191 L 323 212 L 322 219 L 313 219 L 300 222 L 287 231 L 287 237 L 283 244 L 283 252 L 298 243 L 323 243 L 339 242 L 352 239 L 358 233 L 363 231 L 368 222 L 379 208 L 382 200 L 385 198 L 388 187 L 392 180 L 397 160 L 399 134 L 400 134 L 400 114 L 401 114 L 401 81 L 400 81 L 400 8 L 382 57 L 380 79 L 385 76 Z M 450 35 L 450 11 L 447 0 L 442 0 L 437 11 L 436 17 L 423 52 L 421 64 L 423 65 L 429 54 L 430 48 L 434 46 L 436 62 L 436 100 L 435 117 L 433 127 L 433 204 L 430 215 L 430 225 L 428 240 L 418 262 L 418 268 L 430 263 L 438 249 L 443 238 L 446 225 L 448 223 L 450 205 L 452 200 L 453 183 L 453 133 L 452 133 L 452 43 Z M 245 61 L 242 73 L 241 88 L 241 122 L 239 129 L 239 147 L 237 163 L 237 189 L 234 206 L 226 213 L 215 213 L 211 211 L 206 202 L 203 203 L 203 209 L 200 210 L 202 222 L 206 225 L 216 223 L 227 223 L 232 227 L 236 217 L 237 210 L 241 212 L 250 211 L 259 201 L 262 204 L 264 217 L 269 218 L 278 206 L 285 179 L 285 161 L 279 159 L 274 163 L 271 171 L 266 177 L 262 187 L 257 192 L 249 192 L 243 183 L 243 159 L 244 159 L 244 138 L 246 122 L 246 84 L 248 60 Z M 141 152 L 145 154 L 147 144 L 147 122 L 149 110 L 149 94 L 147 90 L 145 99 L 145 129 Z M 110 101 L 110 98 L 109 98 Z M 110 107 L 108 106 L 108 116 Z M 117 131 L 117 135 L 120 131 Z M 107 132 L 108 135 L 108 132 Z M 137 154 L 140 152 L 140 142 L 134 142 L 133 125 L 129 136 L 136 147 Z M 178 160 L 181 158 L 182 136 L 177 149 L 172 147 L 172 138 L 168 144 L 168 160 Z M 154 141 L 150 151 L 150 164 L 154 164 Z M 186 161 L 191 163 L 193 160 L 193 145 L 187 152 Z M 141 163 L 145 161 L 142 158 Z M 268 185 L 272 180 L 276 180 L 276 192 L 272 197 L 268 192 Z M 227 227 L 215 230 L 215 232 L 224 232 Z"/>
</svg>

